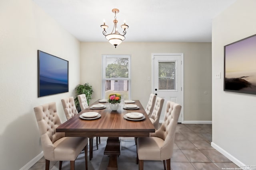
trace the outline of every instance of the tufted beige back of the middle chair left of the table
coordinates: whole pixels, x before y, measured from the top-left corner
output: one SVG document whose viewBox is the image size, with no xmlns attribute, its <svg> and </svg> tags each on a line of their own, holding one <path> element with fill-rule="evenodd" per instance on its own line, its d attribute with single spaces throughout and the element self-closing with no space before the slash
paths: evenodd
<svg viewBox="0 0 256 170">
<path fill-rule="evenodd" d="M 61 102 L 67 119 L 78 114 L 73 97 L 62 99 Z"/>
</svg>

